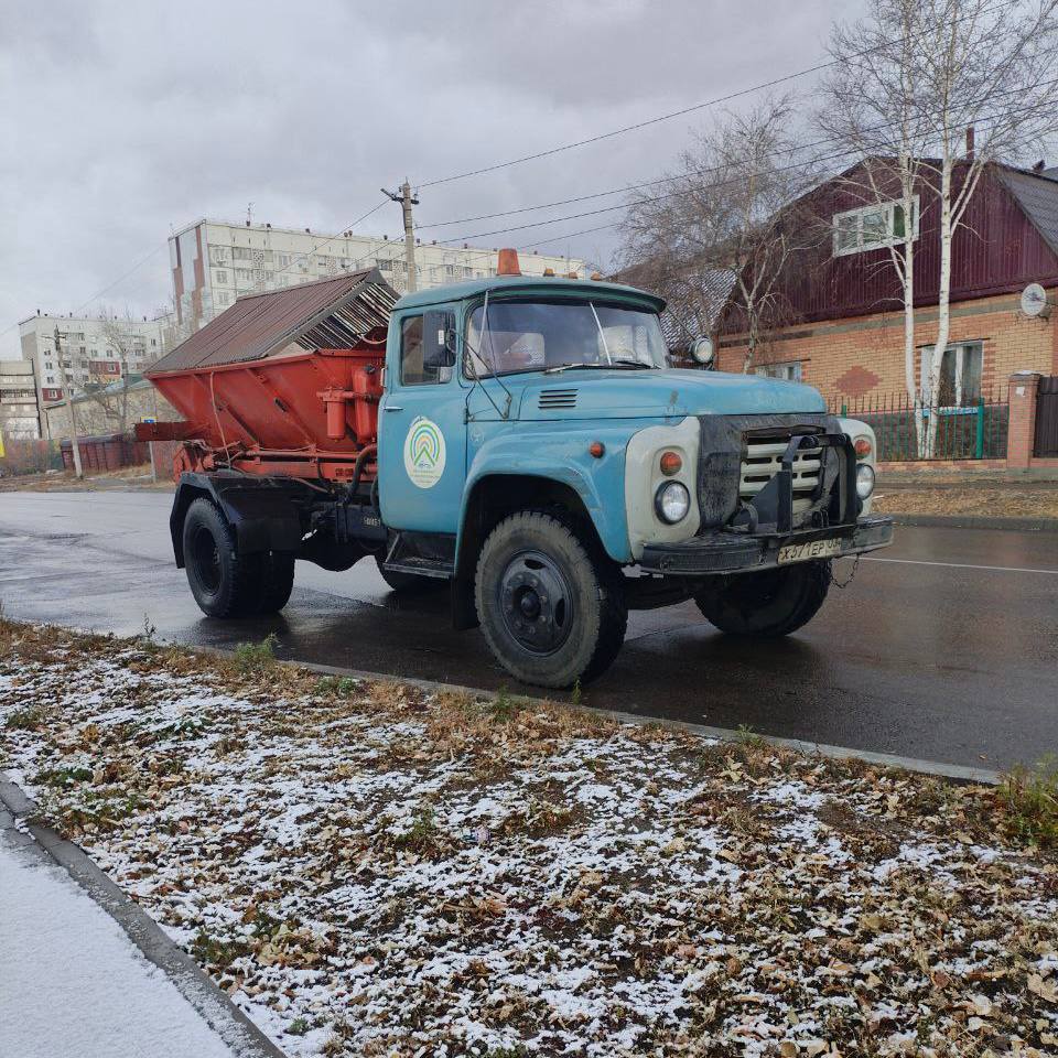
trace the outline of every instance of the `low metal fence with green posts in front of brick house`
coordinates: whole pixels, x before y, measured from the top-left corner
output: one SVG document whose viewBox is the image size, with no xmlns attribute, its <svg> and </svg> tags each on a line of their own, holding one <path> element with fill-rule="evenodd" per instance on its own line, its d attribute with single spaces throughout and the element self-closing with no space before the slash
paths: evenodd
<svg viewBox="0 0 1058 1058">
<path fill-rule="evenodd" d="M 960 404 L 916 401 L 907 393 L 838 398 L 831 401 L 831 411 L 862 419 L 874 430 L 879 462 L 1006 456 L 1005 391 Z"/>
</svg>

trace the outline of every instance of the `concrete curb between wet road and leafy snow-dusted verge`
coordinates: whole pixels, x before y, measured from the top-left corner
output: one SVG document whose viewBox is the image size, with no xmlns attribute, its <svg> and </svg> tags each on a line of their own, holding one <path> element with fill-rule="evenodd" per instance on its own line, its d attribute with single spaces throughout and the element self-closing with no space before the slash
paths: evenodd
<svg viewBox="0 0 1058 1058">
<path fill-rule="evenodd" d="M 229 658 L 234 655 L 233 650 L 225 650 L 219 647 L 194 647 L 203 654 L 213 654 L 217 657 Z M 295 661 L 279 659 L 280 665 L 288 665 L 293 668 L 307 669 L 310 672 L 319 672 L 321 676 L 348 677 L 354 680 L 365 680 L 369 682 L 381 683 L 407 683 L 409 687 L 417 687 L 431 693 L 446 692 L 452 694 L 472 694 L 475 698 L 495 701 L 496 691 L 487 691 L 478 687 L 465 687 L 461 683 L 441 683 L 436 680 L 419 680 L 410 677 L 392 676 L 388 672 L 369 672 L 364 669 L 346 669 L 335 665 L 320 665 L 312 661 Z M 531 702 L 539 705 L 549 703 L 548 699 L 536 698 L 526 694 L 509 694 L 511 699 L 520 702 Z M 622 724 L 637 724 L 639 726 L 654 725 L 658 727 L 668 727 L 672 731 L 685 731 L 692 735 L 700 735 L 704 738 L 714 738 L 717 742 L 745 742 L 746 733 L 733 731 L 730 727 L 712 727 L 708 724 L 692 724 L 681 720 L 666 720 L 660 716 L 645 716 L 639 713 L 626 713 L 612 709 L 595 709 L 591 705 L 570 705 L 569 702 L 551 702 L 552 704 L 564 705 L 566 709 L 581 709 L 594 716 L 602 716 L 608 720 L 616 720 Z M 769 746 L 780 746 L 786 749 L 795 749 L 798 753 L 830 757 L 834 760 L 862 760 L 865 764 L 875 764 L 879 767 L 899 768 L 904 771 L 915 771 L 919 775 L 931 775 L 938 778 L 952 779 L 957 782 L 974 782 L 983 786 L 998 786 L 1003 779 L 998 771 L 989 768 L 970 767 L 962 764 L 946 764 L 942 760 L 921 760 L 917 757 L 905 757 L 893 753 L 874 753 L 870 749 L 853 749 L 850 746 L 832 746 L 823 742 L 807 742 L 801 738 L 782 738 L 778 735 L 764 735 L 753 732 L 754 738 L 760 738 Z"/>
</svg>

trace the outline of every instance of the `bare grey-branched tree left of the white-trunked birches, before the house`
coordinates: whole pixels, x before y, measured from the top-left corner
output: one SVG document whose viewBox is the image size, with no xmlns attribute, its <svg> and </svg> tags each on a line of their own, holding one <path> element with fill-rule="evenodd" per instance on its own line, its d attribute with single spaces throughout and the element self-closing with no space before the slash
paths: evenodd
<svg viewBox="0 0 1058 1058">
<path fill-rule="evenodd" d="M 712 284 L 704 277 L 730 277 L 730 306 L 746 328 L 745 371 L 763 335 L 784 322 L 777 281 L 812 237 L 811 226 L 791 216 L 812 176 L 795 140 L 794 112 L 794 98 L 782 96 L 726 115 L 699 133 L 680 156 L 681 171 L 667 174 L 659 192 L 634 195 L 623 223 L 625 263 L 649 263 L 659 287 L 705 290 Z"/>
</svg>

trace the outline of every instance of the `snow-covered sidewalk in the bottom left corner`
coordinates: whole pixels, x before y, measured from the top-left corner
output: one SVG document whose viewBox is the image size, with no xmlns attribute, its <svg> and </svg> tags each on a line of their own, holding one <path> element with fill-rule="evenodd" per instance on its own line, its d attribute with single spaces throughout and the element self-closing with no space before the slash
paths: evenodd
<svg viewBox="0 0 1058 1058">
<path fill-rule="evenodd" d="M 120 927 L 0 810 L 0 1055 L 233 1058 Z"/>
</svg>

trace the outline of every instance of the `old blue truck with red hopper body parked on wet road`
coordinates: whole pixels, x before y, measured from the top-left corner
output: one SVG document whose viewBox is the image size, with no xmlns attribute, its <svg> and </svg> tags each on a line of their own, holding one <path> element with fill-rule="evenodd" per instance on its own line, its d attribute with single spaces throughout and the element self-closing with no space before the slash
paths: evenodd
<svg viewBox="0 0 1058 1058">
<path fill-rule="evenodd" d="M 835 559 L 890 542 L 865 423 L 673 369 L 650 293 L 504 261 L 399 300 L 377 271 L 241 298 L 155 365 L 186 419 L 142 432 L 183 442 L 171 531 L 205 613 L 279 609 L 296 559 L 371 557 L 395 591 L 446 587 L 514 678 L 566 688 L 629 609 L 787 635 Z"/>
</svg>

